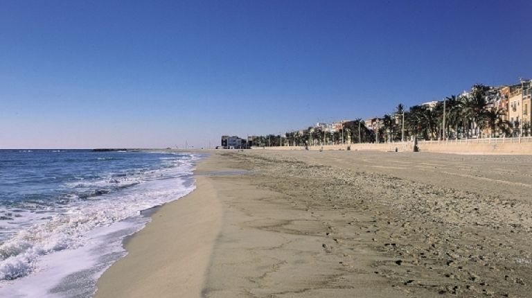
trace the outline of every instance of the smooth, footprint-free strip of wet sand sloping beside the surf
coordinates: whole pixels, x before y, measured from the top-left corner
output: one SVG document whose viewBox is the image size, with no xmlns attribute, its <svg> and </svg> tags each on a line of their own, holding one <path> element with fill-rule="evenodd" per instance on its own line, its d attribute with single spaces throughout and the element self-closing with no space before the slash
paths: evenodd
<svg viewBox="0 0 532 298">
<path fill-rule="evenodd" d="M 206 176 L 205 157 L 196 164 L 196 189 L 149 211 L 152 220 L 124 240 L 127 255 L 98 279 L 94 297 L 199 297 L 222 210 Z"/>
</svg>

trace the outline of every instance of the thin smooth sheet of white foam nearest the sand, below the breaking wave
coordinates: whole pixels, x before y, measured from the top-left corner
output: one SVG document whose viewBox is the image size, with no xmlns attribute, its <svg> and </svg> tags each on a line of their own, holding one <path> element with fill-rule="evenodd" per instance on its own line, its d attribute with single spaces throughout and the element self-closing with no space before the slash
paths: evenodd
<svg viewBox="0 0 532 298">
<path fill-rule="evenodd" d="M 64 249 L 39 258 L 35 272 L 5 282 L 0 297 L 89 297 L 105 269 L 125 256 L 122 238 L 139 231 L 148 218 L 136 217 L 94 229 L 78 249 Z"/>
</svg>

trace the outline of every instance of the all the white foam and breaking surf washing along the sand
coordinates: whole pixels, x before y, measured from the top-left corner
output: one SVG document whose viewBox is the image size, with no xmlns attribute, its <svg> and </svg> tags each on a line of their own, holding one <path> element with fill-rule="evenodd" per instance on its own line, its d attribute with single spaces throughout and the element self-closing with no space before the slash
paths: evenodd
<svg viewBox="0 0 532 298">
<path fill-rule="evenodd" d="M 94 292 L 94 282 L 103 270 L 125 254 L 123 237 L 145 225 L 147 219 L 140 212 L 194 189 L 190 179 L 196 158 L 169 159 L 172 168 L 153 170 L 133 180 L 120 177 L 116 182 L 87 182 L 91 188 L 109 184 L 130 187 L 103 193 L 98 200 L 76 198 L 67 207 L 54 209 L 46 216 L 40 214 L 39 218 L 35 213 L 21 216 L 34 216 L 30 220 L 33 225 L 0 245 L 0 297 L 72 296 L 73 292 L 80 296 Z M 80 278 L 69 281 L 68 277 L 79 272 L 84 272 L 86 282 L 76 286 Z"/>
</svg>

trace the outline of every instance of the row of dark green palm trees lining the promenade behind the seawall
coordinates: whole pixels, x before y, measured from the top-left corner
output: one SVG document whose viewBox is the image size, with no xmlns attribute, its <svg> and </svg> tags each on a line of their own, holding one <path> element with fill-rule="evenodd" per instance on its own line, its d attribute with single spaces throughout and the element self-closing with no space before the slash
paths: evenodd
<svg viewBox="0 0 532 298">
<path fill-rule="evenodd" d="M 411 140 L 468 139 L 512 137 L 515 128 L 528 135 L 529 125 L 504 119 L 505 109 L 493 105 L 498 94 L 486 85 L 474 85 L 468 94 L 448 96 L 433 105 L 414 105 L 408 111 L 402 104 L 366 127 L 362 119 L 349 121 L 340 130 L 330 132 L 315 127 L 287 132 L 285 136 L 269 134 L 256 137 L 258 146 L 305 146 L 333 143 L 373 143 Z"/>
</svg>

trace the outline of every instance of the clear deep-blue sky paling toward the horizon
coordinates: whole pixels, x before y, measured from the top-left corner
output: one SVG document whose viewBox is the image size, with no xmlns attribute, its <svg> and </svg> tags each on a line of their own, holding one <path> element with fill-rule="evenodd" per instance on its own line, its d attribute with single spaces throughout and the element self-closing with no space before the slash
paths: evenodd
<svg viewBox="0 0 532 298">
<path fill-rule="evenodd" d="M 0 1 L 0 148 L 204 147 L 532 77 L 532 1 Z"/>
</svg>

